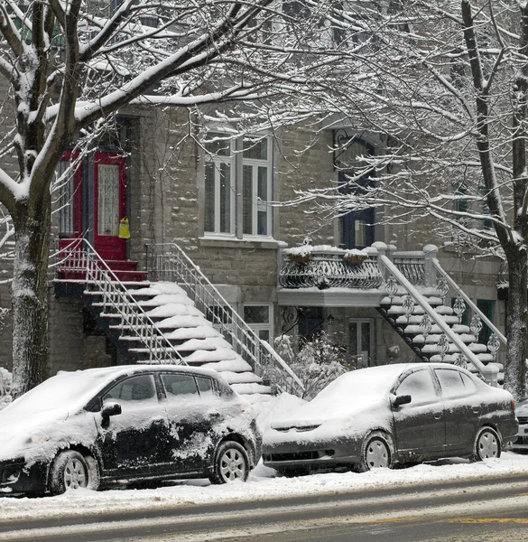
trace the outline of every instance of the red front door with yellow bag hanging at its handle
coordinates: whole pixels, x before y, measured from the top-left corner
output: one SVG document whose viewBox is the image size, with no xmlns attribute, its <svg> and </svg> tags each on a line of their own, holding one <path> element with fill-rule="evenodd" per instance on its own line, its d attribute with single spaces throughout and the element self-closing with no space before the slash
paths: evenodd
<svg viewBox="0 0 528 542">
<path fill-rule="evenodd" d="M 126 161 L 118 154 L 94 156 L 94 248 L 104 260 L 126 258 L 119 221 L 126 218 Z"/>
</svg>

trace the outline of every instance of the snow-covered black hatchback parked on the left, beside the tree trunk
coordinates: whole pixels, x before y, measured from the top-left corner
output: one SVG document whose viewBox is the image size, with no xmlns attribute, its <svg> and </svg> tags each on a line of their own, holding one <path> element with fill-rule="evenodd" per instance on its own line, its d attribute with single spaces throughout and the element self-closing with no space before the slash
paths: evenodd
<svg viewBox="0 0 528 542">
<path fill-rule="evenodd" d="M 262 435 L 217 372 L 132 365 L 61 372 L 0 411 L 0 494 L 247 479 Z"/>
</svg>

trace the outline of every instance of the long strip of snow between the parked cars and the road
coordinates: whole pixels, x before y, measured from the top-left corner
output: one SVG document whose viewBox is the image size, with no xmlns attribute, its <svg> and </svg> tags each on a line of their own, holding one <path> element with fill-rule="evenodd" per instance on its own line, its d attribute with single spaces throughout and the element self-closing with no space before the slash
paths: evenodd
<svg viewBox="0 0 528 542">
<path fill-rule="evenodd" d="M 442 481 L 486 480 L 494 476 L 528 474 L 528 455 L 504 453 L 483 463 L 442 460 L 408 469 L 374 472 L 331 472 L 298 478 L 273 478 L 271 469 L 259 465 L 247 483 L 210 485 L 206 480 L 179 481 L 153 490 L 70 491 L 42 499 L 0 498 L 0 520 L 36 519 L 82 514 L 119 513 L 125 510 L 163 509 L 252 500 L 273 500 L 324 493 L 409 487 Z"/>
</svg>

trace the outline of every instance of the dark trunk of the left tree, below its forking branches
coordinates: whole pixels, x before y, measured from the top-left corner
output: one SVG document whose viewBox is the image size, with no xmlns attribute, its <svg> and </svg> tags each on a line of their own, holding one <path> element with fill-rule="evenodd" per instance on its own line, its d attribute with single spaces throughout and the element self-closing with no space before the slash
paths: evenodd
<svg viewBox="0 0 528 542">
<path fill-rule="evenodd" d="M 14 217 L 13 396 L 48 376 L 49 191 L 17 206 Z"/>
</svg>

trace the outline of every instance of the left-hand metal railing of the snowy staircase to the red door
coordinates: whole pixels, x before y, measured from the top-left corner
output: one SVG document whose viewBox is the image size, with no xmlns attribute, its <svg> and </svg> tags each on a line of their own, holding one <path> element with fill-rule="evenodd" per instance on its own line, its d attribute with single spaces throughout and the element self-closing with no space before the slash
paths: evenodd
<svg viewBox="0 0 528 542">
<path fill-rule="evenodd" d="M 125 331 L 129 332 L 147 350 L 145 363 L 187 365 L 180 352 L 86 239 L 61 239 L 61 243 L 69 244 L 57 250 L 57 270 L 84 273 L 84 282 L 97 291 L 102 306 L 110 307 L 119 316 L 121 336 Z"/>
</svg>

